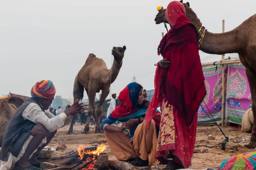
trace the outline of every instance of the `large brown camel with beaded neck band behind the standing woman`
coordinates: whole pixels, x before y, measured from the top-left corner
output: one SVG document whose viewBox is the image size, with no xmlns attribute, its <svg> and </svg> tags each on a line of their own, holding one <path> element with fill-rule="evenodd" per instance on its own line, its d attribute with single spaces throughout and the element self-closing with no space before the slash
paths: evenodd
<svg viewBox="0 0 256 170">
<path fill-rule="evenodd" d="M 183 1 L 180 1 L 183 3 Z M 189 7 L 189 3 L 183 3 L 186 8 L 186 16 L 199 30 L 202 23 L 198 19 L 195 12 Z M 155 17 L 156 24 L 162 22 L 168 23 L 166 20 L 166 10 L 158 12 Z M 232 31 L 214 34 L 205 30 L 204 40 L 200 47 L 201 51 L 208 54 L 227 54 L 238 53 L 241 63 L 246 69 L 247 79 L 250 85 L 252 95 L 253 110 L 253 134 L 250 138 L 250 144 L 246 147 L 253 149 L 256 147 L 256 14 L 241 23 Z"/>
</svg>

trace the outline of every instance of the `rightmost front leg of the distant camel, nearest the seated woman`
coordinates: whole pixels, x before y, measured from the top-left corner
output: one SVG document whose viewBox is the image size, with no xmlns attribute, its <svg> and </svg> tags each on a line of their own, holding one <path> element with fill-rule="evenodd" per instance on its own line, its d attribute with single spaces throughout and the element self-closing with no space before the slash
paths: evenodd
<svg viewBox="0 0 256 170">
<path fill-rule="evenodd" d="M 96 110 L 96 127 L 95 127 L 95 133 L 102 133 L 102 130 L 100 129 L 100 116 L 102 114 L 102 106 L 103 106 L 103 103 L 105 101 L 105 99 L 107 98 L 109 94 L 109 88 L 107 88 L 106 90 L 102 90 L 102 94 L 100 96 L 100 99 L 99 99 L 99 105 L 97 107 L 97 110 Z"/>
</svg>

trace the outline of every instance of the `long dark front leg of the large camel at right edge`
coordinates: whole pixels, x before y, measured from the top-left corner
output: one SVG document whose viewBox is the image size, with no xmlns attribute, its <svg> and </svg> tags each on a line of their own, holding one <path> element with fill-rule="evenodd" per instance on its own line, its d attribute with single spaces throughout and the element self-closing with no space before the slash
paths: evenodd
<svg viewBox="0 0 256 170">
<path fill-rule="evenodd" d="M 252 96 L 253 134 L 251 134 L 250 143 L 245 146 L 249 149 L 254 149 L 256 147 L 256 71 L 254 71 L 253 68 L 246 68 L 246 75 Z"/>
</svg>

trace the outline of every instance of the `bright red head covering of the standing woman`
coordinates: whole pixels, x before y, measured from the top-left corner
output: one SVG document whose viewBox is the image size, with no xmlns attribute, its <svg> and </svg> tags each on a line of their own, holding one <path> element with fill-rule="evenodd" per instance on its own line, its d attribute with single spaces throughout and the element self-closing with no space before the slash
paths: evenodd
<svg viewBox="0 0 256 170">
<path fill-rule="evenodd" d="M 176 0 L 170 2 L 166 8 L 166 18 L 169 23 L 174 26 L 177 19 L 182 15 L 186 15 L 186 9 L 183 4 Z"/>
</svg>

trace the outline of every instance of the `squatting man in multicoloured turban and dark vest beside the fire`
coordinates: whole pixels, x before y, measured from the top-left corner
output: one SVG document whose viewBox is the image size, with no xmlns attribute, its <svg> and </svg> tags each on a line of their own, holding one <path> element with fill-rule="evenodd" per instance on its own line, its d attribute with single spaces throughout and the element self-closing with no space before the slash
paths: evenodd
<svg viewBox="0 0 256 170">
<path fill-rule="evenodd" d="M 54 116 L 45 111 L 51 105 L 55 87 L 50 80 L 37 82 L 27 99 L 12 116 L 0 151 L 1 170 L 39 170 L 39 152 L 51 141 L 57 129 L 67 125 L 75 113 L 81 113 L 83 103 L 76 100 L 65 112 Z"/>
</svg>

